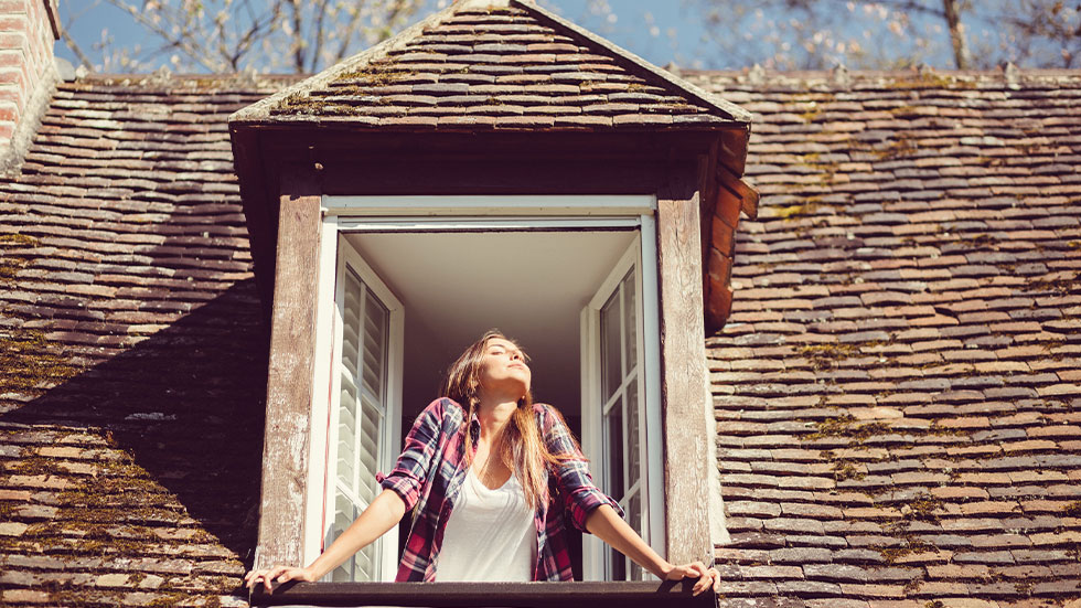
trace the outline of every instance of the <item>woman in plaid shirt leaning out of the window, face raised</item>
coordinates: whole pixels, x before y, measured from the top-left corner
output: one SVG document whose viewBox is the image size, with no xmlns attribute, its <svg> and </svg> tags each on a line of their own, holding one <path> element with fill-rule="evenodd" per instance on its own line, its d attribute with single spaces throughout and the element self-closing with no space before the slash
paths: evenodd
<svg viewBox="0 0 1081 608">
<path fill-rule="evenodd" d="M 485 333 L 451 365 L 372 504 L 311 565 L 253 570 L 248 587 L 319 580 L 414 510 L 397 580 L 571 580 L 566 513 L 663 580 L 719 589 L 716 569 L 670 564 L 623 521 L 563 417 L 533 403 L 531 381 L 517 344 Z"/>
</svg>

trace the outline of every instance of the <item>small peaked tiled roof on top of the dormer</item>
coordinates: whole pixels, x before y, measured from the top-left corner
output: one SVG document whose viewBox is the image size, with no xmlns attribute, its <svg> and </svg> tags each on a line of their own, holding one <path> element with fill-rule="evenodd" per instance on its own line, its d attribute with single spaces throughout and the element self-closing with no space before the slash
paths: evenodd
<svg viewBox="0 0 1081 608">
<path fill-rule="evenodd" d="M 234 122 L 383 130 L 731 127 L 738 107 L 520 0 L 458 1 Z"/>
</svg>

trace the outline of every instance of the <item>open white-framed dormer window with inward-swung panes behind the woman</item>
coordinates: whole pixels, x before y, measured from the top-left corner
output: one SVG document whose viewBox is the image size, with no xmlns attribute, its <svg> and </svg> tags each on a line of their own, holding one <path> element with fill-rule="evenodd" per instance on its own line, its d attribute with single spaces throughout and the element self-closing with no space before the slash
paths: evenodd
<svg viewBox="0 0 1081 608">
<path fill-rule="evenodd" d="M 313 419 L 325 423 L 312 425 L 306 561 L 374 498 L 445 367 L 493 327 L 522 342 L 536 399 L 564 413 L 598 486 L 663 552 L 656 267 L 642 262 L 655 259 L 652 198 L 561 207 L 600 204 L 602 216 L 554 216 L 549 200 L 544 214 L 529 201 L 454 201 L 459 215 L 442 218 L 416 204 L 357 215 L 353 202 L 324 200 Z M 642 577 L 586 538 L 587 579 Z M 390 580 L 397 556 L 385 536 L 329 579 Z"/>
</svg>

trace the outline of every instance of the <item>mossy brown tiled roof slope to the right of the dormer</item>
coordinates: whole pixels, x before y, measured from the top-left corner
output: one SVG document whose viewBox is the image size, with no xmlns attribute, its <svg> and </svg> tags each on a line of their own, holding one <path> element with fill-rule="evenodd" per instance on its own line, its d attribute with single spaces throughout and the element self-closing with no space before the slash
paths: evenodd
<svg viewBox="0 0 1081 608">
<path fill-rule="evenodd" d="M 1081 75 L 841 76 L 688 75 L 761 193 L 707 340 L 725 594 L 1081 597 Z"/>
</svg>

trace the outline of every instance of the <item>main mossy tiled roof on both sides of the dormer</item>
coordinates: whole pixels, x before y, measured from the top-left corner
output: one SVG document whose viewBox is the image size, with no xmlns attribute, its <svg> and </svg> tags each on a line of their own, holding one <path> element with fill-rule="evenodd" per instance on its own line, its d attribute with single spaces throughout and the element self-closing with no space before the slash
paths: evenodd
<svg viewBox="0 0 1081 608">
<path fill-rule="evenodd" d="M 685 76 L 756 113 L 762 194 L 707 339 L 725 604 L 1081 597 L 1081 77 Z M 290 83 L 63 84 L 0 182 L 3 604 L 244 602 L 266 330 L 226 119 Z"/>
</svg>

